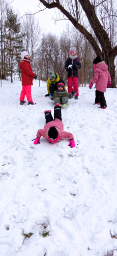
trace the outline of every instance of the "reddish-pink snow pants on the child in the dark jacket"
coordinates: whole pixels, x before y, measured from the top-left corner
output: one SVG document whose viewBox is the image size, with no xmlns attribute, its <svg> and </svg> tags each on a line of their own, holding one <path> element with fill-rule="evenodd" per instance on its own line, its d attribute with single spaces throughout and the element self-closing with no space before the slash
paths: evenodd
<svg viewBox="0 0 117 256">
<path fill-rule="evenodd" d="M 68 77 L 68 92 L 72 93 L 73 90 L 76 93 L 75 95 L 79 96 L 79 92 L 78 92 L 78 77 L 76 77 L 76 76 Z"/>
</svg>

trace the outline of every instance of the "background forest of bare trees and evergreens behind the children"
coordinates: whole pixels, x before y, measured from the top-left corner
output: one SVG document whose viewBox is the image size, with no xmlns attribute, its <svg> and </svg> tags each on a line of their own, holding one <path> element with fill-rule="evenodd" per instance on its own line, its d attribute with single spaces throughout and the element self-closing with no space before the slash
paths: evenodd
<svg viewBox="0 0 117 256">
<path fill-rule="evenodd" d="M 67 25 L 59 37 L 54 33 L 47 33 L 35 15 L 25 13 L 20 17 L 7 0 L 0 0 L 0 33 L 2 79 L 7 80 L 10 77 L 13 82 L 13 76 L 18 76 L 21 80 L 18 64 L 21 61 L 21 48 L 25 47 L 30 54 L 33 71 L 40 80 L 46 81 L 49 71 L 53 70 L 67 82 L 65 63 L 70 47 L 75 46 L 82 65 L 79 70 L 79 84 L 84 83 L 85 86 L 92 81 L 96 53 L 76 28 Z"/>
</svg>

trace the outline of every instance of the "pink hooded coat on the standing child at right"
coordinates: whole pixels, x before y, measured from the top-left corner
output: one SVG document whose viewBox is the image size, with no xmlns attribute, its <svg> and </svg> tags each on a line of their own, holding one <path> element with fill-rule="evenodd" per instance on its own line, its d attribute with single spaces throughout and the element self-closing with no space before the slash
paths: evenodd
<svg viewBox="0 0 117 256">
<path fill-rule="evenodd" d="M 108 66 L 105 62 L 97 64 L 92 83 L 96 84 L 96 90 L 106 92 L 107 83 L 111 80 Z"/>
</svg>

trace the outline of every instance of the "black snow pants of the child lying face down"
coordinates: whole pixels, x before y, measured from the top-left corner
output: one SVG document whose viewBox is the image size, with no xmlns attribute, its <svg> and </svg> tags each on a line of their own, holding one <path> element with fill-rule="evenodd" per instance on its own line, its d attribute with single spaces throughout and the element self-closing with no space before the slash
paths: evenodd
<svg viewBox="0 0 117 256">
<path fill-rule="evenodd" d="M 57 118 L 60 121 L 62 121 L 62 111 L 61 110 L 62 110 L 61 106 L 54 107 L 54 120 Z M 45 112 L 45 119 L 46 119 L 46 124 L 53 121 L 51 112 L 49 112 L 49 111 Z"/>
</svg>

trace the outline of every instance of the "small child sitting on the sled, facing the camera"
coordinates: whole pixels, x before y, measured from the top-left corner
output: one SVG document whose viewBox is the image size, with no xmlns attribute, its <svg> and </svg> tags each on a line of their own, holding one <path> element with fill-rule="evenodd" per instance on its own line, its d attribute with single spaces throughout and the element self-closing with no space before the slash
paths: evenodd
<svg viewBox="0 0 117 256">
<path fill-rule="evenodd" d="M 53 93 L 54 103 L 59 103 L 60 106 L 67 107 L 68 99 L 73 97 L 72 93 L 69 93 L 65 90 L 63 83 L 57 84 L 57 91 Z"/>
</svg>

